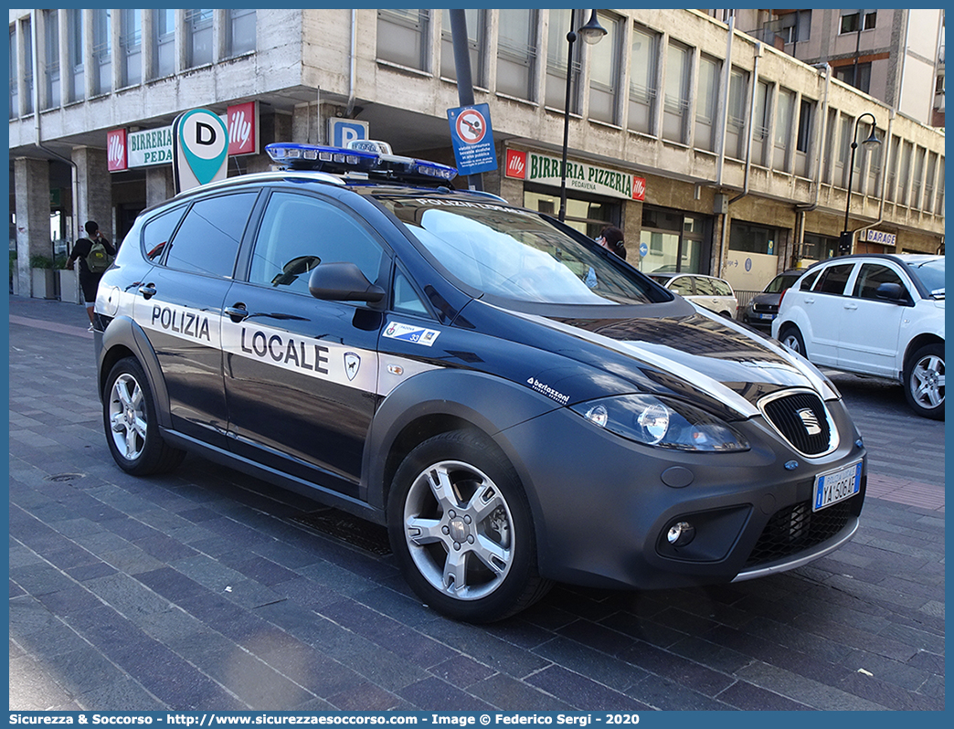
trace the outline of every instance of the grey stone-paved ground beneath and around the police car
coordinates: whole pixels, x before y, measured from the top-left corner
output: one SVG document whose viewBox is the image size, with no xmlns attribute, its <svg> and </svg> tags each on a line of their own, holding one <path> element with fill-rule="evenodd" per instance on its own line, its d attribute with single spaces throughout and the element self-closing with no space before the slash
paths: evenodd
<svg viewBox="0 0 954 729">
<path fill-rule="evenodd" d="M 10 298 L 11 709 L 944 708 L 943 484 L 872 473 L 856 538 L 791 573 L 473 627 L 370 525 L 193 456 L 115 468 L 87 323 Z"/>
</svg>

